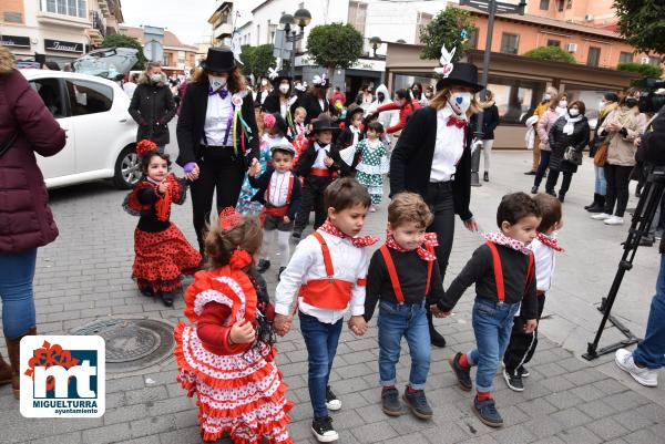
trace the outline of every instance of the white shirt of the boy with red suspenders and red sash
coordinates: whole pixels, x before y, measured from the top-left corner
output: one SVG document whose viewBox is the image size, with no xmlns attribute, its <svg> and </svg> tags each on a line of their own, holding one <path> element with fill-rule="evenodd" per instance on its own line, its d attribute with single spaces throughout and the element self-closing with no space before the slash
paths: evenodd
<svg viewBox="0 0 665 444">
<path fill-rule="evenodd" d="M 368 258 L 366 249 L 354 246 L 349 239 L 342 239 L 323 231 L 319 233 L 330 249 L 335 279 L 354 282 L 351 300 L 345 310 L 331 310 L 310 306 L 303 302 L 303 298 L 298 298 L 299 310 L 325 323 L 337 322 L 344 318 L 349 309 L 351 316 L 364 314 L 365 287 L 358 286 L 358 279 L 367 277 Z M 290 306 L 300 286 L 309 280 L 326 279 L 327 277 L 321 245 L 314 236 L 308 236 L 298 244 L 286 270 L 282 273 L 282 279 L 275 290 L 275 312 L 290 314 Z"/>
</svg>

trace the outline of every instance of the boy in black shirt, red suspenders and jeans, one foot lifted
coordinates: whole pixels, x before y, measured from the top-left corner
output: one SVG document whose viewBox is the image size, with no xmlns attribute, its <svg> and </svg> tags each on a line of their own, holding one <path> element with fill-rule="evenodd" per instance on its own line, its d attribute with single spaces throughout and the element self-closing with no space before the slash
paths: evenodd
<svg viewBox="0 0 665 444">
<path fill-rule="evenodd" d="M 503 426 L 492 388 L 520 304 L 524 331 L 532 333 L 538 324 L 534 259 L 529 246 L 540 223 L 541 210 L 526 194 L 503 196 L 497 211 L 500 230 L 483 235 L 487 242 L 473 252 L 443 298 L 431 307 L 432 313 L 448 316 L 467 288 L 475 283 L 472 324 L 477 348 L 457 353 L 448 362 L 464 391 L 471 391 L 471 366 L 478 366 L 473 413 L 491 427 Z"/>
</svg>

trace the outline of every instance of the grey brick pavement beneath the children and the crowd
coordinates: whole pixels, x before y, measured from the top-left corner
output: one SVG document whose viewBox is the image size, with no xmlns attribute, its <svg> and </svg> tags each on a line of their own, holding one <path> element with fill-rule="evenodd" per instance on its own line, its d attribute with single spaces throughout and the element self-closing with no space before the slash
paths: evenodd
<svg viewBox="0 0 665 444">
<path fill-rule="evenodd" d="M 526 157 L 524 153 L 497 153 L 494 162 L 501 169 L 492 174 L 493 182 L 489 186 L 474 189 L 472 206 L 487 229 L 491 229 L 492 214 L 501 194 L 508 189 L 525 189 L 529 179 L 514 172 L 524 169 Z M 576 358 L 582 351 L 580 348 L 570 347 L 591 339 L 589 332 L 595 330 L 600 320 L 593 309 L 595 299 L 583 301 L 575 292 L 582 277 L 566 276 L 573 273 L 575 267 L 590 262 L 589 255 L 575 252 L 577 248 L 591 248 L 583 239 L 586 236 L 583 225 L 586 224 L 583 221 L 585 214 L 573 207 L 586 203 L 590 196 L 589 185 L 580 184 L 575 188 L 584 174 L 589 175 L 586 172 L 575 176 L 574 193 L 571 192 L 569 198 L 573 204 L 566 204 L 569 230 L 562 231 L 572 254 L 564 257 L 565 261 L 562 260 L 560 269 L 563 272 L 557 276 L 555 288 L 559 300 L 549 300 L 549 303 L 551 300 L 555 302 L 549 307 L 550 318 L 542 324 L 543 335 L 552 337 L 556 342 L 541 337 L 539 352 L 530 368 L 532 376 L 525 380 L 523 393 L 508 390 L 499 378 L 495 381 L 494 394 L 507 426 L 492 430 L 475 419 L 470 411 L 471 395 L 457 389 L 446 362 L 449 354 L 467 351 L 473 345 L 470 324 L 472 298 L 468 292 L 454 317 L 438 321 L 449 345 L 432 353 L 428 380 L 428 396 L 434 407 L 431 422 L 421 422 L 410 414 L 389 419 L 380 411 L 376 321 L 372 321 L 372 328 L 365 338 L 354 338 L 348 331 L 344 332 L 331 374 L 332 386 L 344 403 L 344 409 L 332 414 L 341 435 L 340 443 L 665 442 L 665 409 L 651 400 L 662 402 L 662 389 L 641 390 L 613 369 L 610 358 L 590 364 Z M 114 190 L 106 183 L 52 192 L 52 208 L 61 235 L 54 244 L 40 249 L 38 257 L 35 299 L 40 332 L 68 333 L 79 326 L 106 317 L 147 317 L 171 323 L 184 319 L 182 301 L 174 309 L 165 309 L 161 303 L 141 297 L 129 279 L 136 219 L 120 208 L 123 197 L 123 192 Z M 370 215 L 368 233 L 382 234 L 385 206 Z M 173 219 L 194 240 L 188 204 L 176 207 Z M 459 224 L 457 229 L 447 282 L 459 272 L 481 241 L 475 235 L 463 231 Z M 608 233 L 602 239 L 611 245 L 617 244 L 624 236 L 620 230 Z M 595 248 L 611 248 L 610 244 Z M 612 248 L 616 251 L 616 247 Z M 655 281 L 655 275 L 651 276 L 655 254 L 645 250 L 641 255 L 643 262 L 637 262 L 640 269 L 636 271 L 641 279 L 637 282 L 633 279 L 627 285 L 642 291 L 646 301 Z M 602 252 L 597 256 L 596 264 L 602 256 Z M 616 259 L 603 259 L 607 272 Z M 275 273 L 269 271 L 267 277 L 273 289 Z M 566 304 L 570 307 L 566 308 Z M 643 306 L 642 311 L 647 310 L 646 307 Z M 628 321 L 643 329 L 646 313 L 641 316 L 628 318 Z M 564 335 L 561 331 L 579 332 L 582 328 L 581 334 L 574 334 L 576 342 L 567 342 L 571 334 Z M 277 362 L 290 386 L 288 397 L 296 403 L 290 412 L 293 422 L 289 431 L 295 442 L 314 443 L 309 431 L 311 413 L 306 353 L 297 326 L 279 341 L 278 348 Z M 400 390 L 407 381 L 408 371 L 405 344 L 398 366 Z M 197 410 L 175 382 L 175 375 L 173 359 L 132 374 L 110 374 L 106 414 L 95 420 L 23 419 L 9 388 L 0 388 L 0 443 L 197 443 Z M 626 382 L 617 381 L 617 378 Z"/>
</svg>

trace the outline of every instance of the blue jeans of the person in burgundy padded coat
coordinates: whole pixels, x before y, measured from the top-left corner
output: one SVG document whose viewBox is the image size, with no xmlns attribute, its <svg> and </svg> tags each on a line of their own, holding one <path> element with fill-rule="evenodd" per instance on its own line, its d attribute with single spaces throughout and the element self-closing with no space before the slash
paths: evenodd
<svg viewBox="0 0 665 444">
<path fill-rule="evenodd" d="M 4 338 L 17 338 L 34 327 L 32 279 L 37 248 L 13 254 L 0 254 L 0 298 Z"/>
</svg>

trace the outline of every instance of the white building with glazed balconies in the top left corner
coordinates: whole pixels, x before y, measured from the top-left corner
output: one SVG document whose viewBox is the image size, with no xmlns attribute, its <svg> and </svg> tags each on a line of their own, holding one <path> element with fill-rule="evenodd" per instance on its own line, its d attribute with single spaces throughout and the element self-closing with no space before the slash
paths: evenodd
<svg viewBox="0 0 665 444">
<path fill-rule="evenodd" d="M 122 22 L 120 0 L 0 1 L 0 43 L 19 61 L 69 63 Z"/>
</svg>

